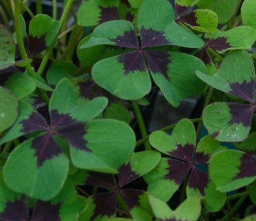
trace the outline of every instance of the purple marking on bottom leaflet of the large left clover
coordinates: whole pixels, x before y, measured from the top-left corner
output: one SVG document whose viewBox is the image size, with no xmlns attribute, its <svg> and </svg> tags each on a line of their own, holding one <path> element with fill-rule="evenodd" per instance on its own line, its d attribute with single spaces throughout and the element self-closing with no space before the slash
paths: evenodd
<svg viewBox="0 0 256 221">
<path fill-rule="evenodd" d="M 35 149 L 34 156 L 37 157 L 37 166 L 41 167 L 45 160 L 52 159 L 62 153 L 62 149 L 54 140 L 51 133 L 46 133 L 36 137 L 31 145 Z"/>
</svg>

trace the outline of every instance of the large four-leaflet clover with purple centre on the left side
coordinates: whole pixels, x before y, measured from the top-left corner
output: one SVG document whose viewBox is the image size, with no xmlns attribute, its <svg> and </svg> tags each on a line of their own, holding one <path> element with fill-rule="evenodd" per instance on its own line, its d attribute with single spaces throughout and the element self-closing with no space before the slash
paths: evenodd
<svg viewBox="0 0 256 221">
<path fill-rule="evenodd" d="M 135 138 L 128 125 L 114 120 L 91 121 L 106 107 L 107 99 L 86 102 L 78 94 L 67 79 L 57 85 L 49 105 L 50 125 L 28 104 L 20 103 L 16 123 L 0 142 L 31 132 L 43 133 L 21 143 L 7 159 L 3 175 L 10 189 L 42 200 L 61 190 L 69 161 L 55 135 L 68 141 L 71 160 L 77 167 L 116 173 L 131 156 Z"/>
</svg>

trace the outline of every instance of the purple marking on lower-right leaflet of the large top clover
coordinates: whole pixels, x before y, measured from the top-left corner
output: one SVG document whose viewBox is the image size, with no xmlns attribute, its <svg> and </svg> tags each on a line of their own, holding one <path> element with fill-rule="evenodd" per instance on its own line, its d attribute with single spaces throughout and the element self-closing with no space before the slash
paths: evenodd
<svg viewBox="0 0 256 221">
<path fill-rule="evenodd" d="M 145 55 L 150 71 L 153 73 L 161 73 L 165 79 L 169 80 L 167 75 L 168 65 L 171 63 L 168 52 L 163 50 L 146 50 Z"/>
</svg>

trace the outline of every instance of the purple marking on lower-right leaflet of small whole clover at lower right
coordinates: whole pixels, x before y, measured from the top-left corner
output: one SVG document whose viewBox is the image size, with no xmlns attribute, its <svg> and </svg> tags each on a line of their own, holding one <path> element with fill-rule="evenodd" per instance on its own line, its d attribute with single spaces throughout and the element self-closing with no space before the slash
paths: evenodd
<svg viewBox="0 0 256 221">
<path fill-rule="evenodd" d="M 189 177 L 188 187 L 198 189 L 200 193 L 204 196 L 204 188 L 206 188 L 208 182 L 208 174 L 194 167 Z"/>
</svg>

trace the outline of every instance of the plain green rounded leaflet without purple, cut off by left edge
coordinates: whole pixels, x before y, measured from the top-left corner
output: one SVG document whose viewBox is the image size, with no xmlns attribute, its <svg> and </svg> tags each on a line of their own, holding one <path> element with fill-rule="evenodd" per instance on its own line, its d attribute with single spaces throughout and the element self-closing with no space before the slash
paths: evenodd
<svg viewBox="0 0 256 221">
<path fill-rule="evenodd" d="M 0 86 L 0 132 L 10 128 L 18 116 L 18 99 Z"/>
</svg>

